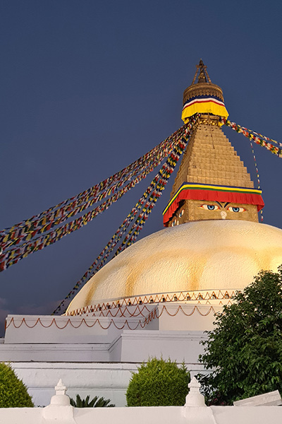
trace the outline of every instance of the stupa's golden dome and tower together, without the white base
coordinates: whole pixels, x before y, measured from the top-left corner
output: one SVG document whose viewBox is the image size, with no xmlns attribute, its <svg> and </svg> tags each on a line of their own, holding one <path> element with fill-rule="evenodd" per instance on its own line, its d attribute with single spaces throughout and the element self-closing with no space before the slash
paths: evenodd
<svg viewBox="0 0 282 424">
<path fill-rule="evenodd" d="M 197 81 L 196 81 L 197 80 Z M 114 302 L 231 298 L 282 262 L 282 232 L 258 223 L 262 192 L 221 130 L 223 93 L 203 62 L 183 95 L 183 121 L 201 113 L 164 209 L 168 228 L 145 237 L 94 275 L 67 314 Z M 217 290 L 216 293 L 213 293 Z M 185 293 L 185 295 L 184 295 Z M 208 294 L 207 294 L 208 293 Z M 110 300 L 110 303 L 109 303 Z"/>
</svg>

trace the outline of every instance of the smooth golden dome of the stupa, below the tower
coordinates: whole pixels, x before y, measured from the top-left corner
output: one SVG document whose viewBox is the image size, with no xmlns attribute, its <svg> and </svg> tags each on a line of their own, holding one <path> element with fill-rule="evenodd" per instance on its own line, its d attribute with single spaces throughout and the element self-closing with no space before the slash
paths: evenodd
<svg viewBox="0 0 282 424">
<path fill-rule="evenodd" d="M 100 300 L 188 290 L 242 289 L 282 264 L 282 230 L 244 220 L 194 221 L 128 247 L 80 290 L 67 313 Z"/>
</svg>

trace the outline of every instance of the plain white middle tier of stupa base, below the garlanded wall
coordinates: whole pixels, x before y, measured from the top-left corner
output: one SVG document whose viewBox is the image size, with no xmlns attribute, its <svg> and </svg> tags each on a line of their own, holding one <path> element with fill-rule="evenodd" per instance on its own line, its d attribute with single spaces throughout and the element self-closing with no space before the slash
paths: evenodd
<svg viewBox="0 0 282 424">
<path fill-rule="evenodd" d="M 189 326 L 186 328 L 186 331 L 181 326 L 178 331 L 169 327 L 162 330 L 123 330 L 116 338 L 104 343 L 75 343 L 73 338 L 68 343 L 28 343 L 28 340 L 26 343 L 13 343 L 12 340 L 12 343 L 0 345 L 0 361 L 134 363 L 147 360 L 152 355 L 163 355 L 178 362 L 195 363 L 202 353 L 199 342 L 206 336 L 203 331 L 190 330 Z"/>
</svg>

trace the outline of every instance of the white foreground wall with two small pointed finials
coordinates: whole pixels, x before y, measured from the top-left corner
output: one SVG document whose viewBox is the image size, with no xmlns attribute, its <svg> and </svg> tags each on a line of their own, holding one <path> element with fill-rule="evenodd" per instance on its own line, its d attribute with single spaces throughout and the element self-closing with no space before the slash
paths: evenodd
<svg viewBox="0 0 282 424">
<path fill-rule="evenodd" d="M 73 408 L 60 381 L 56 394 L 44 408 L 0 408 L 2 424 L 281 424 L 279 406 L 207 407 L 197 380 L 189 384 L 184 406 L 130 408 Z"/>
</svg>

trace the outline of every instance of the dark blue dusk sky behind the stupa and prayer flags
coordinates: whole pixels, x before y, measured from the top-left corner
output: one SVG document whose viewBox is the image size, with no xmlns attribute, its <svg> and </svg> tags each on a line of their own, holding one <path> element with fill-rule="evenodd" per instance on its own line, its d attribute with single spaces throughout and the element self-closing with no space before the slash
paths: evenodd
<svg viewBox="0 0 282 424">
<path fill-rule="evenodd" d="M 278 1 L 2 0 L 1 228 L 92 187 L 176 131 L 201 58 L 229 119 L 282 142 L 281 19 Z M 257 187 L 248 139 L 223 131 Z M 255 154 L 264 223 L 282 228 L 282 159 L 257 145 Z M 0 273 L 0 322 L 50 314 L 156 172 L 84 228 Z M 163 228 L 171 183 L 140 237 Z"/>
</svg>

